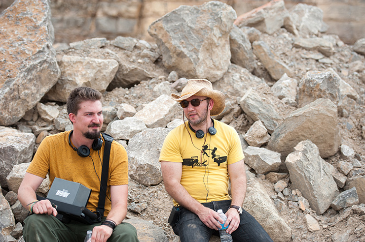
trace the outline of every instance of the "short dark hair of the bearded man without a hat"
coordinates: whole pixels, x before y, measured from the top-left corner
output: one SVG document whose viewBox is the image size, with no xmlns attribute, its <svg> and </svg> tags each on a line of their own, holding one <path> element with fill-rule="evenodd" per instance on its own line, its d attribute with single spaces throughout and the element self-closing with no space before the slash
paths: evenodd
<svg viewBox="0 0 365 242">
<path fill-rule="evenodd" d="M 67 98 L 67 114 L 77 115 L 80 109 L 80 103 L 83 101 L 97 101 L 102 98 L 102 93 L 89 87 L 78 87 L 71 91 Z"/>
</svg>

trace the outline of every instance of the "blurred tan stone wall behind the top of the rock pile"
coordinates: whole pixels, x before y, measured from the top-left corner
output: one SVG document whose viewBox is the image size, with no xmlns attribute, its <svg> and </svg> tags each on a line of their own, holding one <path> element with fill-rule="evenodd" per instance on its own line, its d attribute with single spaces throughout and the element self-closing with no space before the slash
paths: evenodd
<svg viewBox="0 0 365 242">
<path fill-rule="evenodd" d="M 221 0 L 236 10 L 248 12 L 268 0 Z M 1 0 L 0 11 L 13 0 Z M 206 0 L 51 0 L 55 43 L 92 37 L 114 39 L 131 36 L 147 41 L 148 26 L 180 5 L 201 5 Z M 347 44 L 365 37 L 364 0 L 286 0 L 289 10 L 297 3 L 316 5 L 324 11 L 327 33 L 337 34 Z"/>
</svg>

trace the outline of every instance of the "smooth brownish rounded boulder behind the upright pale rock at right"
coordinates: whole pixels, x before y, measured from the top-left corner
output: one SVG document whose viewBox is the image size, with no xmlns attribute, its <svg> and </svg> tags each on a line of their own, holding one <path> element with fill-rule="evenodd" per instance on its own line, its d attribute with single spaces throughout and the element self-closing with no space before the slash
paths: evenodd
<svg viewBox="0 0 365 242">
<path fill-rule="evenodd" d="M 337 107 L 329 99 L 316 101 L 292 112 L 271 134 L 267 149 L 285 158 L 303 140 L 317 145 L 321 157 L 334 155 L 340 146 Z"/>
</svg>

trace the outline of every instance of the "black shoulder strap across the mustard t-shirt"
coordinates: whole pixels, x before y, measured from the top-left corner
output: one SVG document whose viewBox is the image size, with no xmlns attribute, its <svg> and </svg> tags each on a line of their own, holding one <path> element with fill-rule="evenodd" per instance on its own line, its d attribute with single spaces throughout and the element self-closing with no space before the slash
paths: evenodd
<svg viewBox="0 0 365 242">
<path fill-rule="evenodd" d="M 99 204 L 98 208 L 96 209 L 96 211 L 99 212 L 101 216 L 104 216 L 104 205 L 105 205 L 105 197 L 107 195 L 107 183 L 108 183 L 108 173 L 109 173 L 110 148 L 111 148 L 111 142 L 113 141 L 113 137 L 111 137 L 109 134 L 103 133 L 103 137 L 105 140 L 103 168 L 102 168 L 102 178 L 100 181 Z"/>
</svg>

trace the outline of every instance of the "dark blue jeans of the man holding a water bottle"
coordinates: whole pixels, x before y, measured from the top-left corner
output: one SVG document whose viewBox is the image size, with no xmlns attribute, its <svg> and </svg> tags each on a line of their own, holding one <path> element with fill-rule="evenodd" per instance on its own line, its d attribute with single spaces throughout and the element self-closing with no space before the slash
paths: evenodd
<svg viewBox="0 0 365 242">
<path fill-rule="evenodd" d="M 231 205 L 231 200 L 202 203 L 202 205 L 214 211 L 221 209 L 225 213 Z M 181 242 L 209 242 L 213 233 L 218 233 L 208 228 L 198 215 L 183 207 L 181 207 L 180 220 L 173 229 L 180 236 Z M 232 233 L 232 238 L 234 242 L 273 242 L 256 219 L 245 210 L 240 215 L 240 225 Z"/>
</svg>

